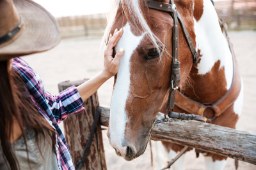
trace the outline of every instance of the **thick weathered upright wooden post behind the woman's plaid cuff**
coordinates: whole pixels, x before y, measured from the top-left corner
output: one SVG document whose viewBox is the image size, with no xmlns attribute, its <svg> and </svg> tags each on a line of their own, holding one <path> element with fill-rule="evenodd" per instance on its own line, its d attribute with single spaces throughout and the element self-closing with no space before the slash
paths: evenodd
<svg viewBox="0 0 256 170">
<path fill-rule="evenodd" d="M 71 87 L 72 85 L 81 85 L 81 83 L 84 81 L 87 80 L 61 82 L 58 84 L 59 91 L 61 92 L 68 87 Z M 70 115 L 63 122 L 65 139 L 68 143 L 68 147 L 75 165 L 78 160 L 81 159 L 81 154 L 83 153 L 84 146 L 86 145 L 86 142 L 89 138 L 90 129 L 93 124 L 93 117 L 98 105 L 99 100 L 96 92 L 84 102 L 85 110 L 82 113 L 77 115 Z M 107 169 L 101 127 L 99 122 L 93 137 L 90 152 L 88 153 L 82 169 Z"/>
</svg>

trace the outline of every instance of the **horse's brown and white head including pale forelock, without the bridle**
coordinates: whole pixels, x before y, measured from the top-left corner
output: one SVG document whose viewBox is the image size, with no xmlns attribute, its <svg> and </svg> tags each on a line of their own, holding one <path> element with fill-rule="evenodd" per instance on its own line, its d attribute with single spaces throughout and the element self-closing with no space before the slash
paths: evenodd
<svg viewBox="0 0 256 170">
<path fill-rule="evenodd" d="M 115 76 L 107 134 L 116 153 L 132 160 L 145 151 L 156 115 L 166 106 L 172 69 L 173 18 L 170 13 L 147 8 L 145 1 L 115 3 L 105 35 L 123 28 L 124 34 L 114 51 L 123 47 L 125 52 Z M 195 45 L 193 1 L 180 0 L 175 4 Z M 193 56 L 180 27 L 179 61 L 182 84 L 191 70 Z"/>
</svg>

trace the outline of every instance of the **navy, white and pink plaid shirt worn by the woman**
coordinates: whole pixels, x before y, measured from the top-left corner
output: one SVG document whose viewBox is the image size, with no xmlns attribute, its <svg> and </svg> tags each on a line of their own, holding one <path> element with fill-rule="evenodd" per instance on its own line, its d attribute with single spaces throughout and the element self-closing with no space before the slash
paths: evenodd
<svg viewBox="0 0 256 170">
<path fill-rule="evenodd" d="M 56 131 L 56 157 L 59 169 L 75 169 L 67 142 L 58 124 L 68 117 L 84 110 L 83 101 L 75 86 L 52 96 L 45 92 L 40 76 L 20 58 L 13 59 L 12 67 L 18 71 L 27 85 L 29 95 L 41 115 Z"/>
</svg>

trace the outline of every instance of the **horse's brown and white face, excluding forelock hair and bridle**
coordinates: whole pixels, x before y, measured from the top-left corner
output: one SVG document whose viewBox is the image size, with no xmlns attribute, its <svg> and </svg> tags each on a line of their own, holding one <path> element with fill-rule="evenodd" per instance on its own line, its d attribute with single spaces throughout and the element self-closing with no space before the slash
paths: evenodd
<svg viewBox="0 0 256 170">
<path fill-rule="evenodd" d="M 115 51 L 123 47 L 125 52 L 115 76 L 107 134 L 116 154 L 125 160 L 145 151 L 156 115 L 166 104 L 170 85 L 173 20 L 170 14 L 161 11 L 147 10 L 147 14 L 148 26 L 168 50 L 158 53 L 147 34 L 125 17 L 122 10 L 118 11 L 111 29 L 113 34 L 116 28 L 123 27 L 124 34 Z M 181 76 L 184 78 L 185 74 Z"/>
</svg>

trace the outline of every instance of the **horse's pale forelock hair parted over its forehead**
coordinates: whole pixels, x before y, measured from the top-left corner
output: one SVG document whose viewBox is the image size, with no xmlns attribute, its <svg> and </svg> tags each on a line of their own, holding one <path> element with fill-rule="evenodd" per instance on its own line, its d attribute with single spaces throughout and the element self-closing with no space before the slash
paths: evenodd
<svg viewBox="0 0 256 170">
<path fill-rule="evenodd" d="M 104 31 L 104 36 L 103 36 L 103 42 L 108 42 L 108 37 L 111 31 L 111 27 L 113 26 L 115 22 L 116 15 L 118 13 L 118 9 L 124 11 L 125 16 L 129 16 L 129 19 L 132 20 L 133 23 L 136 23 L 140 29 L 142 29 L 145 34 L 147 34 L 148 38 L 154 45 L 154 47 L 157 50 L 163 50 L 161 49 L 161 46 L 164 45 L 163 43 L 157 38 L 157 36 L 151 31 L 150 27 L 147 24 L 147 21 L 145 20 L 145 17 L 143 16 L 143 3 L 145 1 L 141 0 L 112 0 L 111 1 L 111 6 L 110 6 L 110 11 L 107 16 L 107 26 Z"/>
</svg>

